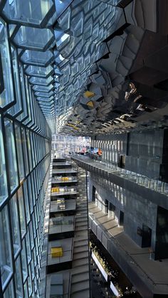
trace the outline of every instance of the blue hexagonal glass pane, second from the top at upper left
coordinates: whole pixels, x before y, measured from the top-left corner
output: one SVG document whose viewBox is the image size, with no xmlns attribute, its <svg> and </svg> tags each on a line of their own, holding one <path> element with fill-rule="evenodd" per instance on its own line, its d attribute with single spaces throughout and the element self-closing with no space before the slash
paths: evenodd
<svg viewBox="0 0 168 298">
<path fill-rule="evenodd" d="M 32 50 L 45 50 L 53 41 L 53 33 L 50 29 L 40 29 L 21 26 L 14 37 L 15 43 L 20 48 Z"/>
</svg>

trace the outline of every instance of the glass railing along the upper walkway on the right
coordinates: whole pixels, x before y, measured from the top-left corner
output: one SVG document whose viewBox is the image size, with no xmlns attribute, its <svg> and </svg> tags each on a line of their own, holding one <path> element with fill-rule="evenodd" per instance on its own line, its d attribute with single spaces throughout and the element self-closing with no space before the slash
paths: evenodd
<svg viewBox="0 0 168 298">
<path fill-rule="evenodd" d="M 96 166 L 98 169 L 103 169 L 104 171 L 108 172 L 114 172 L 114 174 L 117 176 L 121 176 L 124 179 L 128 179 L 141 186 L 150 188 L 152 189 L 152 191 L 158 191 L 159 193 L 164 193 L 168 196 L 168 183 L 164 181 L 159 181 L 142 174 L 138 174 L 126 169 L 121 169 L 119 166 L 117 166 L 117 164 L 110 164 L 107 161 L 99 161 L 95 159 L 93 160 L 85 155 L 74 154 L 72 157 L 75 159 L 83 160 L 85 164 Z"/>
</svg>

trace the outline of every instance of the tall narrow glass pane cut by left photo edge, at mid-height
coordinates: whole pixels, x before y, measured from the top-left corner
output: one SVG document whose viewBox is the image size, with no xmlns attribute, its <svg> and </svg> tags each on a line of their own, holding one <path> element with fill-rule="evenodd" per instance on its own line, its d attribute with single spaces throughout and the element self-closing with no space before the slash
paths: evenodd
<svg viewBox="0 0 168 298">
<path fill-rule="evenodd" d="M 1 116 L 0 116 L 0 203 L 7 196 L 6 167 L 4 159 L 4 141 L 1 132 Z"/>
</svg>

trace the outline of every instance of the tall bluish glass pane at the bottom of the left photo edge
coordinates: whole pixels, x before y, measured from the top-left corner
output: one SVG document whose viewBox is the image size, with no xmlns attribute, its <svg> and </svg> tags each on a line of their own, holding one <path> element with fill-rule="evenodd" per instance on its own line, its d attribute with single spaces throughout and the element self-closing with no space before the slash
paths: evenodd
<svg viewBox="0 0 168 298">
<path fill-rule="evenodd" d="M 11 276 L 11 240 L 9 233 L 9 214 L 7 207 L 0 212 L 0 265 L 1 265 L 1 282 L 5 282 Z"/>
</svg>

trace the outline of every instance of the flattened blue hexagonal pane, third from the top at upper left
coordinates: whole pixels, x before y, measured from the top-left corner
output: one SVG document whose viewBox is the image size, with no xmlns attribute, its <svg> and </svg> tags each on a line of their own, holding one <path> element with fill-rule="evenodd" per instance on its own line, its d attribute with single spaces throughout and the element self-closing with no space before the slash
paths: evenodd
<svg viewBox="0 0 168 298">
<path fill-rule="evenodd" d="M 48 63 L 51 63 L 53 54 L 50 50 L 46 52 L 38 52 L 36 50 L 25 50 L 23 55 L 21 55 L 21 60 L 23 63 L 36 64 L 40 66 L 46 66 Z"/>
</svg>

